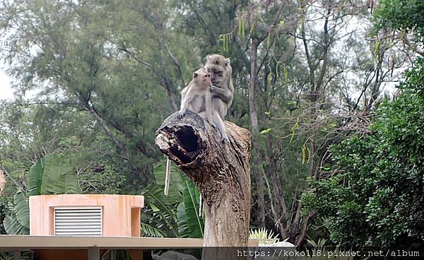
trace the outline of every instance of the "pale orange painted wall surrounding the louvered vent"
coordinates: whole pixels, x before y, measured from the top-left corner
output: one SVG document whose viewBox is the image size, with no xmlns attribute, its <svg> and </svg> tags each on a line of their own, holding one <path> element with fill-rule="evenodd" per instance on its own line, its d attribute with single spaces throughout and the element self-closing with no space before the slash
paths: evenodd
<svg viewBox="0 0 424 260">
<path fill-rule="evenodd" d="M 143 199 L 143 196 L 104 194 L 30 196 L 30 235 L 54 235 L 54 208 L 100 206 L 103 236 L 139 237 Z"/>
</svg>

